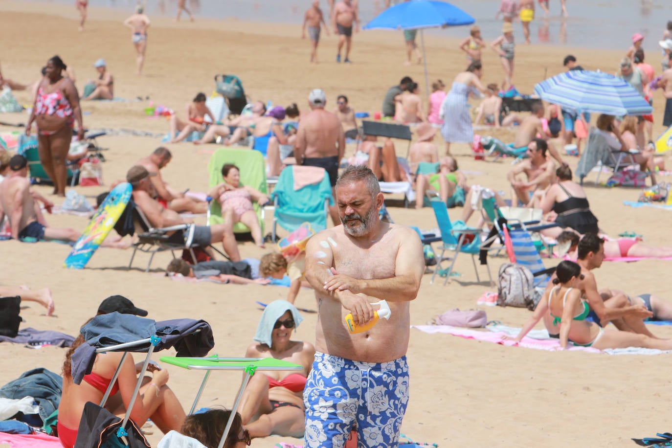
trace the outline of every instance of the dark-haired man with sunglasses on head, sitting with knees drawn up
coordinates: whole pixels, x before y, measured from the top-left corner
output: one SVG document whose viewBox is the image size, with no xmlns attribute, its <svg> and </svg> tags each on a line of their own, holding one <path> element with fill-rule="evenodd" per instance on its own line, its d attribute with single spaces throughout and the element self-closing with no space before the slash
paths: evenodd
<svg viewBox="0 0 672 448">
<path fill-rule="evenodd" d="M 528 144 L 528 158 L 518 163 L 507 174 L 511 183 L 511 197 L 517 204 L 528 205 L 535 191 L 544 191 L 555 179 L 555 165 L 546 156 L 548 144 L 541 138 L 535 138 Z M 524 174 L 527 181 L 519 179 Z M 530 204 L 532 205 L 532 204 Z"/>
</svg>

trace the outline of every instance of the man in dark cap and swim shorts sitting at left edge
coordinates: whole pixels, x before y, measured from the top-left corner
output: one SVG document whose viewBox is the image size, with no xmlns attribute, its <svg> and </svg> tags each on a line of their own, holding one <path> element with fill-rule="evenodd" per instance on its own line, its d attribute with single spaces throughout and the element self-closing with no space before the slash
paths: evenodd
<svg viewBox="0 0 672 448">
<path fill-rule="evenodd" d="M 32 191 L 27 176 L 26 157 L 17 154 L 9 159 L 9 175 L 0 183 L 0 223 L 7 216 L 11 237 L 17 240 L 77 241 L 77 230 L 47 226 L 36 200 L 44 202 L 45 206 L 54 204 Z"/>
</svg>

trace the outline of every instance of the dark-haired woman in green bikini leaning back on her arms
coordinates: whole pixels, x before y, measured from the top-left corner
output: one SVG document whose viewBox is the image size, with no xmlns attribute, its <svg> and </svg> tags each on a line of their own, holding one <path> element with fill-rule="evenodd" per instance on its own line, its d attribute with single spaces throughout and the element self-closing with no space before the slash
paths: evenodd
<svg viewBox="0 0 672 448">
<path fill-rule="evenodd" d="M 532 317 L 523 325 L 515 337 L 520 342 L 532 328 L 544 318 L 544 324 L 551 337 L 559 332 L 560 347 L 567 348 L 568 341 L 582 347 L 595 349 L 622 349 L 644 347 L 646 349 L 672 350 L 672 340 L 655 339 L 644 334 L 619 330 L 605 330 L 586 320 L 590 308 L 581 298 L 577 283 L 583 279 L 581 267 L 573 261 L 562 261 L 556 269 L 556 285 L 546 291 Z"/>
</svg>

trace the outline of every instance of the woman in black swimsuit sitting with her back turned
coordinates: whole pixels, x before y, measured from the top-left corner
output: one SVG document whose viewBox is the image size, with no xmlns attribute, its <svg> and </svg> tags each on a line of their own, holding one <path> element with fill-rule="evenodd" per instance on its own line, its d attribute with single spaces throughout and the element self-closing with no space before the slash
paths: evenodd
<svg viewBox="0 0 672 448">
<path fill-rule="evenodd" d="M 583 187 L 572 181 L 572 170 L 563 163 L 555 171 L 558 183 L 551 185 L 541 201 L 544 214 L 554 212 L 555 222 L 560 227 L 549 228 L 542 234 L 555 238 L 564 230 L 571 228 L 580 234 L 597 233 L 597 218 L 590 211 L 588 199 Z"/>
</svg>

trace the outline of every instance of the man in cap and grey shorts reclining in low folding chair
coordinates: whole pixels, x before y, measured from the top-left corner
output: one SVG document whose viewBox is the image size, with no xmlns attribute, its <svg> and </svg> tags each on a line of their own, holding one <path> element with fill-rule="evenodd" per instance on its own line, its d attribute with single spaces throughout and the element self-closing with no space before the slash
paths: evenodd
<svg viewBox="0 0 672 448">
<path fill-rule="evenodd" d="M 174 210 L 164 208 L 159 201 L 154 199 L 155 193 L 154 185 L 149 177 L 153 173 L 147 171 L 145 167 L 135 165 L 126 173 L 126 181 L 132 186 L 132 195 L 135 205 L 146 216 L 149 224 L 153 228 L 163 228 L 169 226 L 177 226 L 179 224 L 192 224 L 192 222 L 185 220 Z M 186 230 L 185 230 L 186 231 Z M 212 242 L 222 242 L 224 251 L 231 259 L 231 261 L 240 261 L 241 255 L 238 252 L 238 245 L 236 238 L 233 235 L 233 224 L 230 220 L 225 220 L 224 224 L 216 224 L 213 226 L 194 226 L 190 231 L 193 232 L 192 242 L 204 249 L 210 246 Z M 172 232 L 171 238 L 181 240 L 176 232 Z"/>
</svg>

